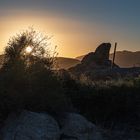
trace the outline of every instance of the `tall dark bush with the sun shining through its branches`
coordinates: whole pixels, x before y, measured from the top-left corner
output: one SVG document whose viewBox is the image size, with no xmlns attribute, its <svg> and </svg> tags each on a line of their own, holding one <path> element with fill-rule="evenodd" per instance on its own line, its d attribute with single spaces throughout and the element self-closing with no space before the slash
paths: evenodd
<svg viewBox="0 0 140 140">
<path fill-rule="evenodd" d="M 48 39 L 33 29 L 10 39 L 0 70 L 3 114 L 22 109 L 61 112 L 67 108 L 62 85 L 53 71 L 55 52 L 50 55 Z"/>
</svg>

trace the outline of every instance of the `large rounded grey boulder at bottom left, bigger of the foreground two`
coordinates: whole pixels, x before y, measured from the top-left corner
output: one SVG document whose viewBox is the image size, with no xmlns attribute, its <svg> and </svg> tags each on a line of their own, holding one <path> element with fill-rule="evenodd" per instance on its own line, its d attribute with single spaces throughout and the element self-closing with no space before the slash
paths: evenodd
<svg viewBox="0 0 140 140">
<path fill-rule="evenodd" d="M 23 111 L 6 120 L 2 140 L 59 140 L 58 123 L 46 113 Z"/>
</svg>

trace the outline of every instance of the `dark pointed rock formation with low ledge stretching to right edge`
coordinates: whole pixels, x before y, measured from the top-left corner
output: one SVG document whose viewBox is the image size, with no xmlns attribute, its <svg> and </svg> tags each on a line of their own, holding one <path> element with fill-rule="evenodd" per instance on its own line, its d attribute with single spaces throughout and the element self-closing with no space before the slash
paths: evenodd
<svg viewBox="0 0 140 140">
<path fill-rule="evenodd" d="M 76 77 L 86 76 L 91 80 L 108 80 L 121 77 L 138 77 L 140 68 L 120 68 L 109 60 L 111 44 L 102 43 L 95 52 L 90 52 L 81 61 L 81 64 L 69 69 L 69 72 Z"/>
</svg>

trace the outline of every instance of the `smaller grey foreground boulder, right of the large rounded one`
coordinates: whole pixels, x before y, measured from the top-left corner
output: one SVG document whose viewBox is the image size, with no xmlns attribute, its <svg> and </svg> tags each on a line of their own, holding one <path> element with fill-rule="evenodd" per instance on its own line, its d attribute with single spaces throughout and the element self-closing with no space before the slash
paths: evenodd
<svg viewBox="0 0 140 140">
<path fill-rule="evenodd" d="M 102 140 L 97 127 L 79 114 L 66 113 L 60 125 L 61 140 Z"/>
</svg>

